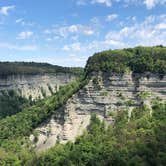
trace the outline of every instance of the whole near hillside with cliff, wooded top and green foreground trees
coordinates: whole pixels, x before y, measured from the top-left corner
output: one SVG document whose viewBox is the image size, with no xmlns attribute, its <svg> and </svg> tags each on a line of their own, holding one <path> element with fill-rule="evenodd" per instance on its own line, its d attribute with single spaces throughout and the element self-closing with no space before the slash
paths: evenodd
<svg viewBox="0 0 166 166">
<path fill-rule="evenodd" d="M 165 47 L 96 53 L 82 78 L 0 120 L 0 164 L 164 166 L 165 67 Z"/>
</svg>

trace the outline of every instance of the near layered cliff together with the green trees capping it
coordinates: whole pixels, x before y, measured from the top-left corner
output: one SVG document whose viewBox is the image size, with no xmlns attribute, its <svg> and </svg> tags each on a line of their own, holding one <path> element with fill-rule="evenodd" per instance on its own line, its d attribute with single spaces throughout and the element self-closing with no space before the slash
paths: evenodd
<svg viewBox="0 0 166 166">
<path fill-rule="evenodd" d="M 85 69 L 89 83 L 61 108 L 63 114 L 56 113 L 36 129 L 36 149 L 74 141 L 88 127 L 93 112 L 110 124 L 119 110 L 127 110 L 130 120 L 135 107 L 151 110 L 156 100 L 166 101 L 165 60 L 166 48 L 160 47 L 110 50 L 90 57 Z"/>
</svg>

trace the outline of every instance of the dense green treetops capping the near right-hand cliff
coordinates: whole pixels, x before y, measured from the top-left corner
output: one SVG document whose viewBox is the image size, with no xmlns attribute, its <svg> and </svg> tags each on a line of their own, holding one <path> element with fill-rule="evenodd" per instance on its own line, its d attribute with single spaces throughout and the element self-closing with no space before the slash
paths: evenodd
<svg viewBox="0 0 166 166">
<path fill-rule="evenodd" d="M 87 74 L 99 71 L 166 74 L 166 47 L 135 47 L 103 51 L 90 57 L 85 69 Z"/>
</svg>

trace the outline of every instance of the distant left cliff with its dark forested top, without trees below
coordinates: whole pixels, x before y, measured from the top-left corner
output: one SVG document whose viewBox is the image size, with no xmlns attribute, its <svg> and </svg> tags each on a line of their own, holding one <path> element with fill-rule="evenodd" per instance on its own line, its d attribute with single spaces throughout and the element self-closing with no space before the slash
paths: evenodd
<svg viewBox="0 0 166 166">
<path fill-rule="evenodd" d="M 52 95 L 75 80 L 81 68 L 67 68 L 46 63 L 1 62 L 0 91 L 15 90 L 26 98 L 38 99 Z"/>
</svg>

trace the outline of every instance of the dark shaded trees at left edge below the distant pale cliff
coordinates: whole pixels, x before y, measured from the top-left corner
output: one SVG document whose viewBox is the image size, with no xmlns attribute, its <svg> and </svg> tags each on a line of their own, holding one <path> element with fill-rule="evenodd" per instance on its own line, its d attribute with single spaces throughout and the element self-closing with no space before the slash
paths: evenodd
<svg viewBox="0 0 166 166">
<path fill-rule="evenodd" d="M 14 90 L 0 91 L 0 119 L 21 112 L 33 103 L 34 101 L 22 97 Z"/>
</svg>

